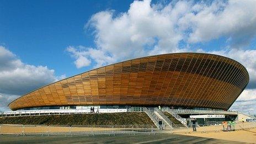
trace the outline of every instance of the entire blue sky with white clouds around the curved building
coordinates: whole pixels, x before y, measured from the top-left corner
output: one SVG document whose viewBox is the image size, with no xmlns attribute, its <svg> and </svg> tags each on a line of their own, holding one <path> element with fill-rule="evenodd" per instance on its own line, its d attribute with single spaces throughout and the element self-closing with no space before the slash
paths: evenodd
<svg viewBox="0 0 256 144">
<path fill-rule="evenodd" d="M 0 1 L 0 110 L 44 84 L 130 58 L 207 52 L 250 82 L 231 110 L 256 114 L 256 1 Z"/>
</svg>

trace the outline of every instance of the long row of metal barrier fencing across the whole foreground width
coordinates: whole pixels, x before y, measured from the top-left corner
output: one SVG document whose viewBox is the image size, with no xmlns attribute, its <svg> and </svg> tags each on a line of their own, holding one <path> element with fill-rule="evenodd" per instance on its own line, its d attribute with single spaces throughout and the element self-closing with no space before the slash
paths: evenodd
<svg viewBox="0 0 256 144">
<path fill-rule="evenodd" d="M 223 130 L 245 130 L 256 128 L 256 122 L 238 122 L 226 129 L 228 125 L 214 126 L 197 126 L 196 132 L 220 132 Z M 169 132 L 172 134 L 190 134 L 193 132 L 192 127 L 175 127 L 174 129 L 159 130 L 152 125 L 81 125 L 81 126 L 65 126 L 65 125 L 0 125 L 0 134 L 12 135 L 116 135 L 116 134 L 156 134 L 159 132 Z"/>
</svg>

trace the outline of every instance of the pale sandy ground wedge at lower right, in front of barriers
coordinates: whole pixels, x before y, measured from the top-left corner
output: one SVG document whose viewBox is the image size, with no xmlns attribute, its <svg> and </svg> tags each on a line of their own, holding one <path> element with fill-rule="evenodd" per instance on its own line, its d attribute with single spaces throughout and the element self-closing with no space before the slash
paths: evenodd
<svg viewBox="0 0 256 144">
<path fill-rule="evenodd" d="M 182 135 L 215 138 L 215 139 L 227 140 L 227 141 L 256 143 L 256 128 L 248 129 L 248 130 L 229 131 L 229 132 L 223 132 L 223 131 L 211 132 L 211 133 L 191 132 L 190 134 L 182 134 Z"/>
</svg>

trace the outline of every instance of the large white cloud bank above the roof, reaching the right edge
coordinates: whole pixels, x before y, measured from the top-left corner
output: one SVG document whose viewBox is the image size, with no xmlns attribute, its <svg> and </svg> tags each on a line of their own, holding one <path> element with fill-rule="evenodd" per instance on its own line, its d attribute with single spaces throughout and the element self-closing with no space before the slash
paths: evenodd
<svg viewBox="0 0 256 144">
<path fill-rule="evenodd" d="M 172 1 L 151 4 L 134 1 L 129 10 L 116 13 L 105 10 L 96 13 L 86 24 L 92 29 L 96 47 L 73 46 L 83 65 L 97 63 L 96 67 L 134 57 L 181 51 L 194 51 L 191 45 L 225 38 L 221 51 L 198 50 L 233 58 L 246 66 L 249 89 L 256 88 L 256 50 L 246 50 L 256 35 L 256 1 Z M 219 48 L 219 47 L 217 47 Z M 75 62 L 77 65 L 77 63 Z M 248 90 L 249 90 L 248 89 Z M 244 92 L 242 98 L 252 98 Z M 249 103 L 255 103 L 254 101 Z M 241 101 L 240 101 L 241 102 Z M 243 102 L 246 105 L 246 102 Z M 237 104 L 237 103 L 235 103 Z"/>
</svg>

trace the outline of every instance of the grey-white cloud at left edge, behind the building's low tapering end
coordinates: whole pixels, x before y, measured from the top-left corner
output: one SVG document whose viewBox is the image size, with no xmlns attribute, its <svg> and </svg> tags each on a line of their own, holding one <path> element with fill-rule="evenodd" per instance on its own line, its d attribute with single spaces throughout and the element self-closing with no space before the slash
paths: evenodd
<svg viewBox="0 0 256 144">
<path fill-rule="evenodd" d="M 6 47 L 0 46 L 0 109 L 35 88 L 57 81 L 65 75 L 55 77 L 54 70 L 47 66 L 33 66 L 23 63 Z"/>
</svg>

